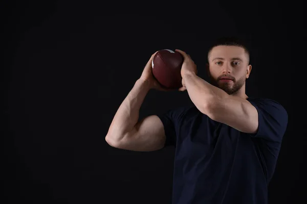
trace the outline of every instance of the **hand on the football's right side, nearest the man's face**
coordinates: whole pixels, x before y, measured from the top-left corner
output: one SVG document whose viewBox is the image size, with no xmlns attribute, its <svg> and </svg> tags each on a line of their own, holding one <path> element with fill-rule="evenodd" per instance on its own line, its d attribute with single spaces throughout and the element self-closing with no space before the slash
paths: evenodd
<svg viewBox="0 0 307 204">
<path fill-rule="evenodd" d="M 194 61 L 191 59 L 190 55 L 186 54 L 180 49 L 176 49 L 178 53 L 180 53 L 183 57 L 183 63 L 181 67 L 181 77 L 182 77 L 182 87 L 179 88 L 179 91 L 185 91 L 186 86 L 184 82 L 184 78 L 188 74 L 196 74 L 197 75 L 197 68 Z"/>
</svg>

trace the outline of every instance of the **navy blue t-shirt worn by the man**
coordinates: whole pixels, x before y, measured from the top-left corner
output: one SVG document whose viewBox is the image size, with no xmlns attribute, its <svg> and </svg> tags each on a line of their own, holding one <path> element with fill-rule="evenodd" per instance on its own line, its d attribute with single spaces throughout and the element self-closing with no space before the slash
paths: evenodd
<svg viewBox="0 0 307 204">
<path fill-rule="evenodd" d="M 174 204 L 266 204 L 287 111 L 276 101 L 248 98 L 258 111 L 256 134 L 216 122 L 196 107 L 159 115 L 165 146 L 176 147 L 173 170 Z"/>
</svg>

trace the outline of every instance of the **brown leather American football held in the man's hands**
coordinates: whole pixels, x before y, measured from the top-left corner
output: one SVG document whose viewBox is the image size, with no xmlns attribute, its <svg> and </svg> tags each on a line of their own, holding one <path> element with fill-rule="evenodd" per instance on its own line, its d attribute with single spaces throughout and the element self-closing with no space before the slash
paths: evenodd
<svg viewBox="0 0 307 204">
<path fill-rule="evenodd" d="M 170 49 L 159 50 L 152 59 L 152 73 L 157 81 L 166 88 L 182 87 L 181 66 L 183 56 Z"/>
</svg>

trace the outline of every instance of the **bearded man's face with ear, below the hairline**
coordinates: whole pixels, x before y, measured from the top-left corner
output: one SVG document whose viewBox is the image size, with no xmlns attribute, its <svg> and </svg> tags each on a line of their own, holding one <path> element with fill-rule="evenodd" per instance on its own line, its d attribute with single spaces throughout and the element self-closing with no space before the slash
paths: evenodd
<svg viewBox="0 0 307 204">
<path fill-rule="evenodd" d="M 245 85 L 251 71 L 248 54 L 238 46 L 213 47 L 208 61 L 211 84 L 229 95 L 235 94 Z"/>
</svg>

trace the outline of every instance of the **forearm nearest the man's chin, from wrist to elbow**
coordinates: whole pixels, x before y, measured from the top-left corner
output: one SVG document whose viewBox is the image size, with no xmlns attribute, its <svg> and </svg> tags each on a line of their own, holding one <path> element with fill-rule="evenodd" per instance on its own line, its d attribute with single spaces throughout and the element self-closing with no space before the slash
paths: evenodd
<svg viewBox="0 0 307 204">
<path fill-rule="evenodd" d="M 214 106 L 227 96 L 225 91 L 209 84 L 194 73 L 185 74 L 183 79 L 193 104 L 208 116 Z"/>
</svg>

